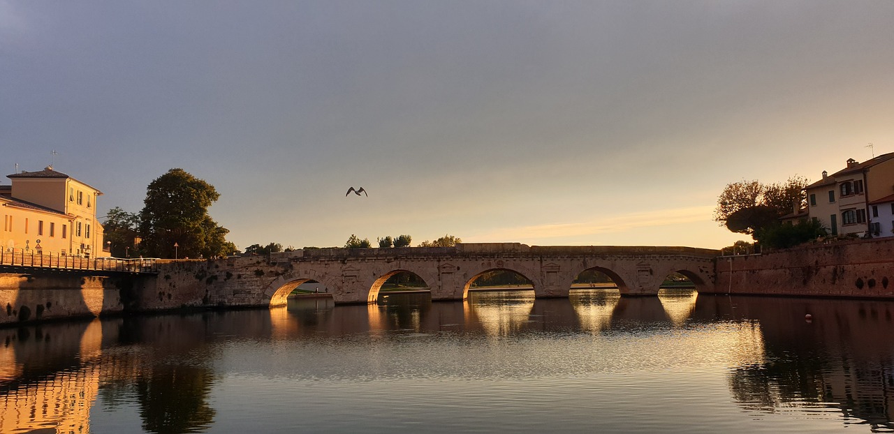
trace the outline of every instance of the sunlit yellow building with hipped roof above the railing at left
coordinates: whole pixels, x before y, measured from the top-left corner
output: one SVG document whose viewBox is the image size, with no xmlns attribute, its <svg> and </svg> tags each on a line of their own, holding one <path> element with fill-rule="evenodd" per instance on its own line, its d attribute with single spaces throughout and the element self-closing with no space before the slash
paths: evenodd
<svg viewBox="0 0 894 434">
<path fill-rule="evenodd" d="M 13 173 L 0 187 L 0 246 L 8 252 L 95 257 L 103 251 L 97 188 L 47 167 Z"/>
</svg>

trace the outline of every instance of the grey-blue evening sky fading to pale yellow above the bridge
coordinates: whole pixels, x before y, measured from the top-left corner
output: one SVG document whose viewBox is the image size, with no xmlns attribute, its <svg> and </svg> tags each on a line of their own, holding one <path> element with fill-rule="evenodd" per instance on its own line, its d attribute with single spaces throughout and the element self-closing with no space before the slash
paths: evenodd
<svg viewBox="0 0 894 434">
<path fill-rule="evenodd" d="M 892 22 L 890 0 L 0 0 L 0 169 L 137 213 L 181 168 L 242 249 L 720 248 L 750 239 L 713 221 L 728 183 L 894 152 Z"/>
</svg>

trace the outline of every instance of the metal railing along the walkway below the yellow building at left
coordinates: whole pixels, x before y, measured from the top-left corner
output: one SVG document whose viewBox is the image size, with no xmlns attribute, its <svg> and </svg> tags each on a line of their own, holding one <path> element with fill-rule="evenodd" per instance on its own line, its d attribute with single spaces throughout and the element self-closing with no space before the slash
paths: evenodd
<svg viewBox="0 0 894 434">
<path fill-rule="evenodd" d="M 56 270 L 158 272 L 155 258 L 90 258 L 9 247 L 0 249 L 0 265 Z"/>
</svg>

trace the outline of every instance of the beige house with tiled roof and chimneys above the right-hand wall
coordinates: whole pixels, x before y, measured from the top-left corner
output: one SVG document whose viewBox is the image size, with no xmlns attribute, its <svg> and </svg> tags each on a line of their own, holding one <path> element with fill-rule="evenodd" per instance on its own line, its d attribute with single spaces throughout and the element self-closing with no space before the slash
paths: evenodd
<svg viewBox="0 0 894 434">
<path fill-rule="evenodd" d="M 807 186 L 806 191 L 807 213 L 821 221 L 831 235 L 894 236 L 890 231 L 894 223 L 885 211 L 894 195 L 894 153 L 863 163 L 849 159 L 841 171 L 831 175 L 822 171 L 822 179 Z"/>
</svg>

